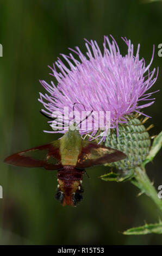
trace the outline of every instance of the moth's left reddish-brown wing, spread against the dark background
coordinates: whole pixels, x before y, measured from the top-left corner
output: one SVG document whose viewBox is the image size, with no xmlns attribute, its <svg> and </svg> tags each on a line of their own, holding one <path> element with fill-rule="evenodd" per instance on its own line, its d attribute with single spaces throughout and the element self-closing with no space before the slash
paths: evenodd
<svg viewBox="0 0 162 256">
<path fill-rule="evenodd" d="M 13 166 L 44 167 L 47 170 L 57 170 L 63 167 L 59 147 L 60 142 L 54 141 L 11 155 L 4 162 Z"/>
</svg>

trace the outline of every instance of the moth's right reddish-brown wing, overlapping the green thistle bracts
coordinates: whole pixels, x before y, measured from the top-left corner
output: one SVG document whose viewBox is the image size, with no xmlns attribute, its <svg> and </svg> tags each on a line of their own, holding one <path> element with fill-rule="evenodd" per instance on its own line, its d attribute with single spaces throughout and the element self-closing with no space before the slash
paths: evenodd
<svg viewBox="0 0 162 256">
<path fill-rule="evenodd" d="M 125 158 L 126 155 L 119 150 L 85 141 L 83 142 L 82 151 L 78 156 L 76 167 L 87 168 L 98 164 L 116 162 Z"/>
</svg>

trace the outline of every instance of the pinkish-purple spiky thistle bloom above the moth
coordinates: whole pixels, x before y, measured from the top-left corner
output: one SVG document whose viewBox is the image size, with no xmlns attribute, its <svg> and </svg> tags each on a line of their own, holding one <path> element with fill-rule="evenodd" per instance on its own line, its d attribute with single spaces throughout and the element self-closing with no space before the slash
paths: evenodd
<svg viewBox="0 0 162 256">
<path fill-rule="evenodd" d="M 140 44 L 134 54 L 131 41 L 122 38 L 128 46 L 128 53 L 122 56 L 113 36 L 111 39 L 112 42 L 108 36 L 104 36 L 103 53 L 96 41 L 89 42 L 85 39 L 86 56 L 79 47 L 75 47 L 76 50 L 69 48 L 77 58 L 72 53 L 69 56 L 61 54 L 68 67 L 60 58 L 53 64 L 50 75 L 57 80 L 57 87 L 53 81 L 51 85 L 43 80 L 40 81 L 48 92 L 45 95 L 40 93 L 39 101 L 46 108 L 46 110 L 42 109 L 44 113 L 49 117 L 52 117 L 54 111 L 64 114 L 64 106 L 72 111 L 74 103 L 78 102 L 85 106 L 86 111 L 110 111 L 110 127 L 117 129 L 120 123 L 127 122 L 127 115 L 132 115 L 134 112 L 141 113 L 142 108 L 154 103 L 155 98 L 151 96 L 155 92 L 146 93 L 158 76 L 158 69 L 157 75 L 155 75 L 155 68 L 149 71 L 153 61 L 154 46 L 151 62 L 145 66 L 144 58 L 139 58 Z M 149 102 L 140 105 L 140 101 Z M 77 111 L 84 110 L 82 105 L 75 105 Z M 69 120 L 72 119 L 73 117 L 69 118 Z M 64 133 L 66 131 L 45 132 Z M 84 132 L 80 131 L 80 134 L 89 132 L 92 132 L 93 136 L 97 133 L 93 129 L 87 129 Z M 102 140 L 105 140 L 105 136 Z"/>
</svg>

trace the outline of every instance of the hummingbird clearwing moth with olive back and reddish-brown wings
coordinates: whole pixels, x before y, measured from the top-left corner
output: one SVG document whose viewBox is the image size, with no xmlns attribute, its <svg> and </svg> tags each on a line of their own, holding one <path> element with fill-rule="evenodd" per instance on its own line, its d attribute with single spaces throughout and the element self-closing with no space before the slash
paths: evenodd
<svg viewBox="0 0 162 256">
<path fill-rule="evenodd" d="M 82 179 L 85 168 L 124 158 L 126 155 L 121 151 L 84 140 L 78 130 L 69 128 L 57 141 L 13 154 L 4 162 L 13 166 L 58 170 L 55 199 L 60 200 L 63 206 L 76 206 L 83 199 Z"/>
</svg>

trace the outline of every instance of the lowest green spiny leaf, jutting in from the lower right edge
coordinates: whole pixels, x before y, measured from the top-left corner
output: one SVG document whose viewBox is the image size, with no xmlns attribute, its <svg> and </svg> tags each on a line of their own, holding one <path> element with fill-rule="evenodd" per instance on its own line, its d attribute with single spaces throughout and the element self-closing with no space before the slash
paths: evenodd
<svg viewBox="0 0 162 256">
<path fill-rule="evenodd" d="M 123 235 L 147 235 L 147 234 L 162 234 L 162 222 L 155 224 L 145 224 L 141 227 L 129 228 L 123 232 Z"/>
</svg>

